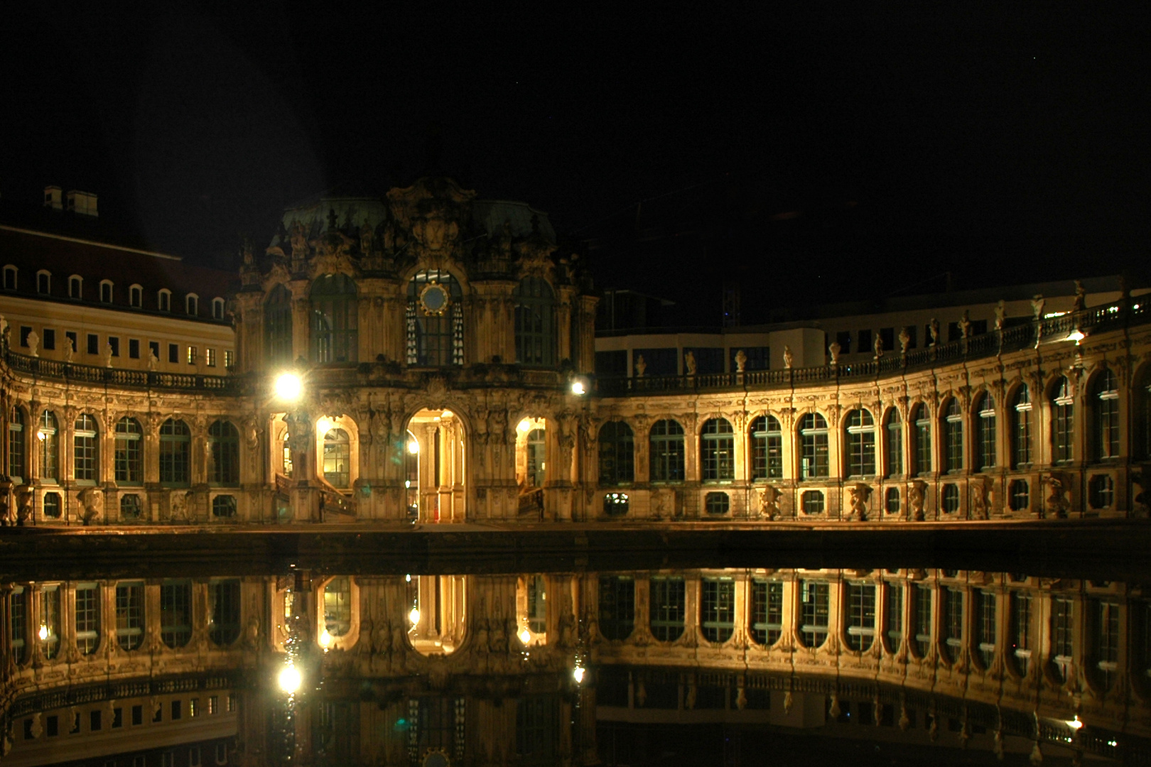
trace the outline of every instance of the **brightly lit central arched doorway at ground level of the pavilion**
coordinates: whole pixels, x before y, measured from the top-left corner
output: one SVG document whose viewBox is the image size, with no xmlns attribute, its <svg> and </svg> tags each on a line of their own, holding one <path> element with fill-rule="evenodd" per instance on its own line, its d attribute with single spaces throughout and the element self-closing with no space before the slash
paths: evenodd
<svg viewBox="0 0 1151 767">
<path fill-rule="evenodd" d="M 404 434 L 404 499 L 420 522 L 463 522 L 464 424 L 448 409 L 425 408 Z"/>
</svg>

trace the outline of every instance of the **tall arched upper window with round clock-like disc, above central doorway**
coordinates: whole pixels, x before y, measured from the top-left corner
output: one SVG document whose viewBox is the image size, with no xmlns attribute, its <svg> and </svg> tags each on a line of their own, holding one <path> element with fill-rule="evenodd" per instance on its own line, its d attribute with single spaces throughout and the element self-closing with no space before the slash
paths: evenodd
<svg viewBox="0 0 1151 767">
<path fill-rule="evenodd" d="M 464 363 L 463 292 L 442 269 L 425 269 L 407 283 L 407 363 Z"/>
</svg>

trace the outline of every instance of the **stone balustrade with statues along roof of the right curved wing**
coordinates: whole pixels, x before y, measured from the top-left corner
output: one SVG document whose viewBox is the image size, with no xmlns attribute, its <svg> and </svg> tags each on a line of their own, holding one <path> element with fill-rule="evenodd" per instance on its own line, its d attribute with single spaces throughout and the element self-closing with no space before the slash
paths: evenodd
<svg viewBox="0 0 1151 767">
<path fill-rule="evenodd" d="M 1090 335 L 1126 325 L 1145 324 L 1149 321 L 1151 321 L 1151 296 L 1145 297 L 1142 302 L 1139 299 L 1135 299 L 1134 306 L 1130 300 L 1106 304 L 1047 320 L 1032 320 L 1024 324 L 946 344 L 935 344 L 906 354 L 889 351 L 883 356 L 872 360 L 829 363 L 809 368 L 785 368 L 783 370 L 709 373 L 694 376 L 603 377 L 595 382 L 595 393 L 601 397 L 616 397 L 731 389 L 790 389 L 837 381 L 879 378 L 1034 348 L 1039 344 L 1062 340 L 1073 330 Z"/>
</svg>

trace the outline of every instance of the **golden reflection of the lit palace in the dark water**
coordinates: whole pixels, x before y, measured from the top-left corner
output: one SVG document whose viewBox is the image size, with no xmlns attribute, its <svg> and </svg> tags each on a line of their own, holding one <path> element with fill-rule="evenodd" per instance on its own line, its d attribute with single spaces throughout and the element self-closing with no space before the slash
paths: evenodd
<svg viewBox="0 0 1151 767">
<path fill-rule="evenodd" d="M 1134 583 L 356 572 L 3 584 L 0 765 L 1151 757 Z"/>
</svg>

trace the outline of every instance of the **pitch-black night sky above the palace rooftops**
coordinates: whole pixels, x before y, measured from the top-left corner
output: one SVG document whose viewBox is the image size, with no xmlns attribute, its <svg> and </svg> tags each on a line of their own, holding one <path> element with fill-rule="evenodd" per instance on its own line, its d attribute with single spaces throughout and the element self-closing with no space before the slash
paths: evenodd
<svg viewBox="0 0 1151 767">
<path fill-rule="evenodd" d="M 831 297 L 856 273 L 899 286 L 1146 260 L 1143 16 L 378 5 L 6 18 L 0 193 L 94 191 L 151 246 L 230 266 L 238 232 L 266 240 L 288 204 L 411 181 L 434 133 L 443 169 L 561 232 L 738 179 L 731 225 L 744 208 L 806 222 L 744 232 L 748 258 L 838 275 Z"/>
</svg>

